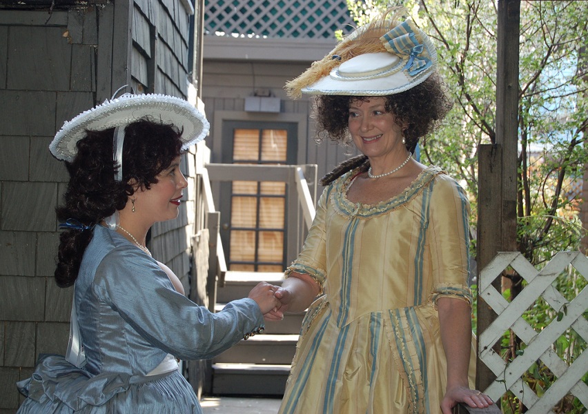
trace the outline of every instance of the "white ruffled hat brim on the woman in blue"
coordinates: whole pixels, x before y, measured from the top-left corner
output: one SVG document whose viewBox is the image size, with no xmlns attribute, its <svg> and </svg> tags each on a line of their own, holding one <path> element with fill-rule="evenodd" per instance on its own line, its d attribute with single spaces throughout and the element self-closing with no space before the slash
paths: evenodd
<svg viewBox="0 0 588 414">
<path fill-rule="evenodd" d="M 87 130 L 107 130 L 128 126 L 139 119 L 151 119 L 172 124 L 183 130 L 182 149 L 202 141 L 210 125 L 202 112 L 185 99 L 161 94 L 130 95 L 106 100 L 90 110 L 66 121 L 49 146 L 52 155 L 63 161 L 73 161 L 77 141 Z"/>
</svg>

